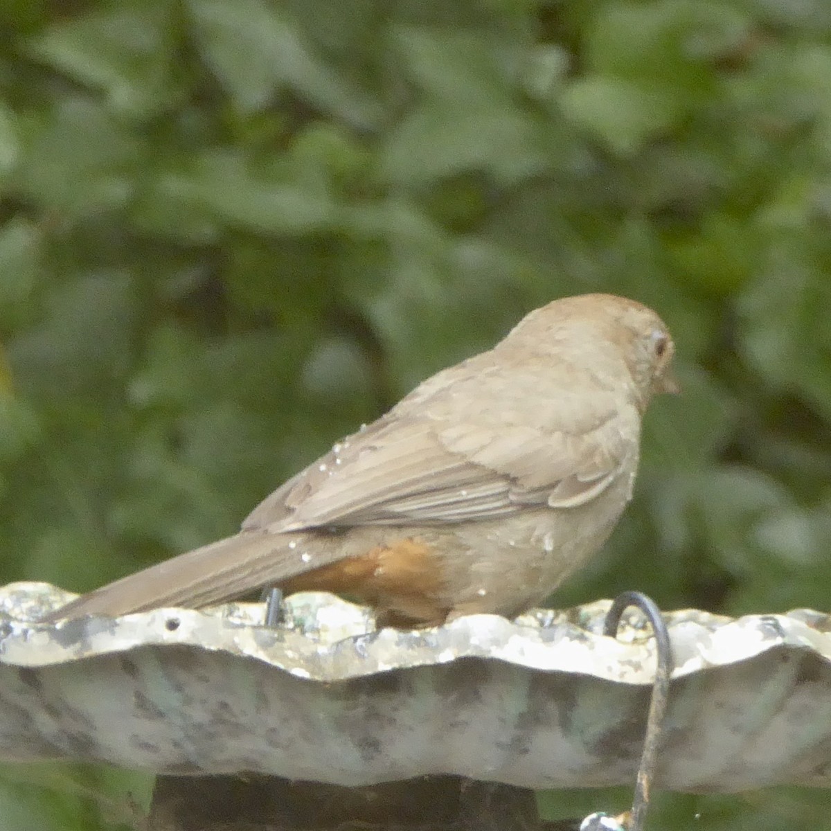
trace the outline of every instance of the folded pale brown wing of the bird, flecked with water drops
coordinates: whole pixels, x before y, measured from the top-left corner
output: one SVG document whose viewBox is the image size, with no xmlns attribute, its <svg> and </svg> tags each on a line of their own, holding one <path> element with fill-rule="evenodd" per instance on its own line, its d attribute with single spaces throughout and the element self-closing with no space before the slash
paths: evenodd
<svg viewBox="0 0 831 831">
<path fill-rule="evenodd" d="M 529 504 L 583 504 L 624 466 L 633 469 L 639 420 L 611 395 L 593 396 L 588 414 L 580 410 L 563 407 L 563 426 L 552 430 L 527 417 L 494 424 L 483 413 L 460 418 L 427 407 L 416 417 L 396 408 L 290 479 L 243 529 L 443 524 L 514 514 Z"/>
</svg>

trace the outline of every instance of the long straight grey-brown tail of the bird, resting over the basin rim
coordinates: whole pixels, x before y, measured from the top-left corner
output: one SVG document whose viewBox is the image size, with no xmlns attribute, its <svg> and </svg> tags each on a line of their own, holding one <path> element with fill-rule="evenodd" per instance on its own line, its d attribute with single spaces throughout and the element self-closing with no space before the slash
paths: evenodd
<svg viewBox="0 0 831 831">
<path fill-rule="evenodd" d="M 338 549 L 315 534 L 243 531 L 83 594 L 43 620 L 209 606 L 336 562 Z"/>
</svg>

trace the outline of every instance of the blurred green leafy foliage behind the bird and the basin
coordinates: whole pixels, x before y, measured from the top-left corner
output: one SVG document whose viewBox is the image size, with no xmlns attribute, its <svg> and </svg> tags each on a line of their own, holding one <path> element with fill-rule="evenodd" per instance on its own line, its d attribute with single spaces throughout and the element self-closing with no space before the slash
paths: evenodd
<svg viewBox="0 0 831 831">
<path fill-rule="evenodd" d="M 603 290 L 665 318 L 684 395 L 555 602 L 828 608 L 828 0 L 0 8 L 2 582 L 229 534 L 421 378 Z M 146 787 L 9 766 L 0 823 L 109 829 Z M 652 827 L 828 803 L 665 795 Z"/>
</svg>

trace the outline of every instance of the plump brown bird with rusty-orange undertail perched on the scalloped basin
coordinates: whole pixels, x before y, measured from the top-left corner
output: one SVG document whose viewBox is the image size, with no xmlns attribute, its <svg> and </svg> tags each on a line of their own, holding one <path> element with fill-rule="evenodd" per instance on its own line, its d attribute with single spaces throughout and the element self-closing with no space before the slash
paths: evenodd
<svg viewBox="0 0 831 831">
<path fill-rule="evenodd" d="M 606 541 L 641 418 L 676 391 L 661 319 L 609 294 L 531 312 L 428 378 L 258 505 L 233 537 L 120 579 L 52 619 L 321 590 L 396 622 L 515 615 Z"/>
</svg>

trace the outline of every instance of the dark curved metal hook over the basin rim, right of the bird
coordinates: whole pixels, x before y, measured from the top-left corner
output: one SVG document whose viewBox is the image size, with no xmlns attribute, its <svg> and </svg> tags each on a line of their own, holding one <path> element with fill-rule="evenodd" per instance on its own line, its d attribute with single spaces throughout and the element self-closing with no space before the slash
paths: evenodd
<svg viewBox="0 0 831 831">
<path fill-rule="evenodd" d="M 652 624 L 657 652 L 655 681 L 652 686 L 652 699 L 649 702 L 649 715 L 647 715 L 647 735 L 643 740 L 641 765 L 638 767 L 635 783 L 635 798 L 632 801 L 631 819 L 627 824 L 630 831 L 642 831 L 649 808 L 649 790 L 655 774 L 658 743 L 661 739 L 661 725 L 669 698 L 674 659 L 670 636 L 666 631 L 666 623 L 661 616 L 661 610 L 649 597 L 640 592 L 623 592 L 615 597 L 603 625 L 603 634 L 607 637 L 617 637 L 617 628 L 620 626 L 623 612 L 631 606 L 639 608 Z"/>
</svg>

